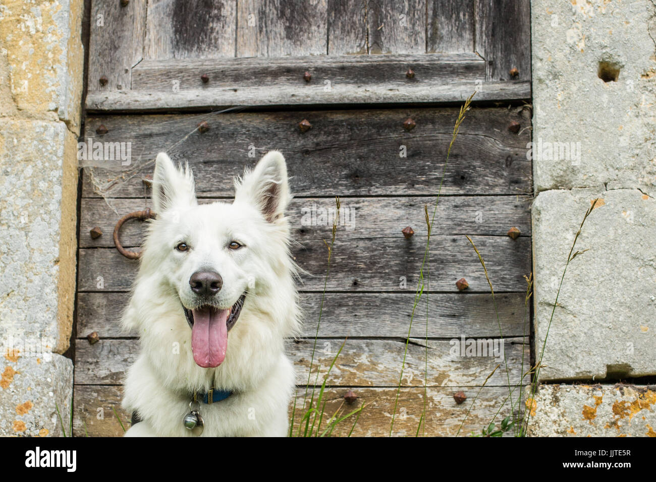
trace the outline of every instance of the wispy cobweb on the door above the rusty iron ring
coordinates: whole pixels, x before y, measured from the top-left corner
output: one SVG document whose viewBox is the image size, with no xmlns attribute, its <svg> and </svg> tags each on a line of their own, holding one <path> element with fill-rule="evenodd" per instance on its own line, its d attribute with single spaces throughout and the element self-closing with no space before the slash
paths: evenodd
<svg viewBox="0 0 656 482">
<path fill-rule="evenodd" d="M 188 119 L 197 119 L 198 123 L 195 129 L 182 136 L 179 140 L 170 146 L 162 146 L 160 151 L 166 152 L 171 158 L 175 157 L 176 153 L 182 150 L 180 146 L 182 146 L 182 144 L 184 144 L 184 142 L 186 142 L 186 140 L 188 140 L 188 138 L 192 136 L 194 132 L 203 129 L 204 121 L 213 115 L 241 111 L 247 107 L 248 106 L 236 106 L 220 111 L 186 116 L 185 119 L 187 121 Z M 163 126 L 169 123 L 180 123 L 180 119 L 178 118 L 171 121 L 164 121 L 159 125 Z M 121 188 L 125 185 L 125 183 L 133 180 L 135 176 L 141 176 L 142 172 L 144 172 L 144 169 L 150 169 L 150 171 L 152 171 L 152 169 L 155 167 L 155 157 L 152 159 L 143 159 L 142 153 L 136 153 L 136 156 L 134 155 L 135 153 L 131 153 L 131 161 L 129 164 L 134 165 L 133 168 L 123 169 L 124 166 L 122 166 L 121 163 L 113 163 L 110 164 L 113 166 L 112 169 L 111 167 L 108 167 L 108 163 L 106 163 L 104 157 L 101 159 L 94 159 L 93 155 L 81 156 L 80 150 L 82 148 L 92 149 L 92 147 L 88 147 L 84 142 L 78 143 L 77 158 L 79 160 L 79 167 L 85 169 L 85 175 L 89 176 L 89 180 L 91 181 L 94 192 L 100 195 L 102 199 L 104 199 L 105 203 L 112 209 L 113 212 L 115 212 L 115 214 L 119 214 L 114 203 L 114 200 L 117 198 L 117 193 L 121 191 Z M 146 197 L 145 189 L 144 197 Z"/>
</svg>

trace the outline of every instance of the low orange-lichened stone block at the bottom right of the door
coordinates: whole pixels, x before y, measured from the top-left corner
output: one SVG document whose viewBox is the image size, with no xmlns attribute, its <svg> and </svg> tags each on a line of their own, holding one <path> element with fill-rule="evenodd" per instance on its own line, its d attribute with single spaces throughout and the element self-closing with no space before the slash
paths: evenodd
<svg viewBox="0 0 656 482">
<path fill-rule="evenodd" d="M 656 437 L 655 386 L 543 385 L 529 396 L 529 436 Z"/>
</svg>

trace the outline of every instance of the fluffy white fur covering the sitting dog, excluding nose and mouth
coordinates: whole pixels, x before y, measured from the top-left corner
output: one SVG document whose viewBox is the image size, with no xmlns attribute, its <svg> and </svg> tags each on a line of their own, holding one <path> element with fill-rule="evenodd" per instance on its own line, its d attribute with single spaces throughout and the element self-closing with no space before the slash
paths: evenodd
<svg viewBox="0 0 656 482">
<path fill-rule="evenodd" d="M 203 437 L 286 435 L 295 374 L 283 340 L 295 336 L 299 310 L 284 212 L 291 195 L 281 153 L 270 151 L 235 181 L 233 203 L 199 205 L 188 167 L 157 155 L 150 222 L 123 326 L 138 332 L 141 352 L 127 372 L 123 408 L 142 422 L 129 436 L 192 435 L 182 424 L 194 390 L 233 390 L 201 404 Z M 243 247 L 228 249 L 231 241 Z M 190 249 L 175 249 L 180 242 Z M 218 304 L 231 306 L 247 291 L 226 357 L 215 369 L 194 362 L 182 304 L 193 308 L 189 279 L 197 270 L 220 273 Z"/>
</svg>

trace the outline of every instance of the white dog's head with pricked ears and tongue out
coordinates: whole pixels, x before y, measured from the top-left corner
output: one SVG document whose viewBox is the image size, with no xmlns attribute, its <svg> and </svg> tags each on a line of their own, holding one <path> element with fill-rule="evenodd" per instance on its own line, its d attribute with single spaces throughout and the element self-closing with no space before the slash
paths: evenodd
<svg viewBox="0 0 656 482">
<path fill-rule="evenodd" d="M 273 299 L 277 285 L 289 285 L 293 274 L 284 216 L 291 199 L 284 157 L 267 153 L 236 180 L 235 188 L 233 203 L 199 204 L 190 169 L 176 167 L 165 153 L 157 155 L 157 218 L 150 224 L 136 290 L 148 285 L 150 294 L 166 297 L 167 313 L 175 300 L 178 316 L 171 329 L 189 325 L 194 361 L 203 368 L 223 363 L 228 332 L 245 317 L 244 323 L 258 313 L 266 317 L 278 303 Z M 281 325 L 276 333 L 289 334 L 284 320 L 270 323 Z"/>
</svg>

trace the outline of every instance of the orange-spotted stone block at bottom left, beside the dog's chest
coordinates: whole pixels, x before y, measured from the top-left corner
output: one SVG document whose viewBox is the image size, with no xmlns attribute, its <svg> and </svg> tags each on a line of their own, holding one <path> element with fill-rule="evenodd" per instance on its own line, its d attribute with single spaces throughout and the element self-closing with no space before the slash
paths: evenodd
<svg viewBox="0 0 656 482">
<path fill-rule="evenodd" d="M 0 435 L 70 437 L 73 362 L 35 346 L 0 360 Z"/>
</svg>

